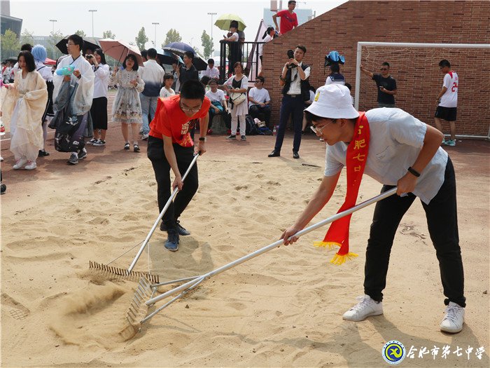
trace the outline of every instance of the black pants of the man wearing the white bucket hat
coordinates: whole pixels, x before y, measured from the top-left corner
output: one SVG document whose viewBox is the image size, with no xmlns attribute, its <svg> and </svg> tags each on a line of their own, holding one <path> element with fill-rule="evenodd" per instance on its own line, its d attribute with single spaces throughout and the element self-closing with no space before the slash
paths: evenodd
<svg viewBox="0 0 490 368">
<path fill-rule="evenodd" d="M 384 185 L 381 193 L 393 187 Z M 370 238 L 367 241 L 364 292 L 375 301 L 383 299 L 382 290 L 386 286 L 393 238 L 398 224 L 415 198 L 412 193 L 405 197 L 389 196 L 380 200 L 374 209 Z M 449 157 L 444 172 L 444 183 L 430 203 L 426 205 L 422 202 L 422 206 L 426 212 L 430 239 L 439 261 L 442 287 L 447 297 L 444 304 L 452 301 L 464 307 L 466 299 L 463 295 L 463 261 L 458 236 L 456 179 Z"/>
</svg>

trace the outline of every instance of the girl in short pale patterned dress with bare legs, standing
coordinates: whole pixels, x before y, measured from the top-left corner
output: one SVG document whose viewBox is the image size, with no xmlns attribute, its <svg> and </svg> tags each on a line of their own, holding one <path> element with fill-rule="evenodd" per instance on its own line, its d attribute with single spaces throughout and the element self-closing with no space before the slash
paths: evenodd
<svg viewBox="0 0 490 368">
<path fill-rule="evenodd" d="M 145 82 L 138 73 L 136 56 L 129 54 L 123 62 L 123 70 L 114 68 L 109 86 L 118 86 L 118 93 L 113 104 L 113 118 L 121 123 L 121 130 L 125 139 L 124 149 L 130 149 L 129 128 L 131 126 L 133 137 L 133 151 L 139 152 L 138 135 L 141 126 L 141 101 L 139 93 L 145 88 Z"/>
</svg>

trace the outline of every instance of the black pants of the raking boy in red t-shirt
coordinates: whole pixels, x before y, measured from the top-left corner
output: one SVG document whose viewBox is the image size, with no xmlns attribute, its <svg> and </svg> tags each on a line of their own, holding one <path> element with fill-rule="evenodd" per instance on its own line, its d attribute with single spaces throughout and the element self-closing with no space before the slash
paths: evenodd
<svg viewBox="0 0 490 368">
<path fill-rule="evenodd" d="M 194 147 L 183 147 L 179 144 L 173 144 L 173 147 L 179 172 L 183 176 L 193 161 Z M 158 209 L 160 213 L 171 196 L 172 186 L 170 181 L 171 168 L 163 151 L 163 140 L 152 136 L 148 137 L 147 155 L 153 165 L 155 179 L 157 179 Z M 198 186 L 197 163 L 195 163 L 183 183 L 182 190 L 177 193 L 174 202 L 170 203 L 167 212 L 163 215 L 162 221 L 167 226 L 167 229 L 176 229 L 176 220 L 179 219 L 183 210 L 186 210 Z"/>
</svg>

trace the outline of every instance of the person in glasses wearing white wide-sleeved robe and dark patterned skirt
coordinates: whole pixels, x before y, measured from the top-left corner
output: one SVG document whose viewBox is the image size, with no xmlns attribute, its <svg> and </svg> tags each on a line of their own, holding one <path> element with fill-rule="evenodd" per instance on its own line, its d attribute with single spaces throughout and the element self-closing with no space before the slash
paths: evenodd
<svg viewBox="0 0 490 368">
<path fill-rule="evenodd" d="M 85 149 L 85 128 L 87 127 L 90 107 L 94 95 L 94 71 L 84 57 L 82 57 L 83 39 L 78 34 L 68 37 L 66 43 L 69 56 L 64 57 L 56 68 L 53 76 L 55 89 L 52 99 L 55 101 L 53 109 L 55 114 L 62 113 L 66 103 L 69 104 L 69 116 L 59 122 L 55 134 L 55 148 L 57 151 L 71 152 L 68 163 L 76 165 L 78 160 L 87 157 Z M 64 67 L 73 67 L 71 74 L 64 75 Z M 56 116 L 55 116 L 56 118 Z M 67 124 L 66 124 L 67 123 Z M 59 130 L 69 126 L 68 130 Z M 66 144 L 64 144 L 66 142 Z"/>
</svg>

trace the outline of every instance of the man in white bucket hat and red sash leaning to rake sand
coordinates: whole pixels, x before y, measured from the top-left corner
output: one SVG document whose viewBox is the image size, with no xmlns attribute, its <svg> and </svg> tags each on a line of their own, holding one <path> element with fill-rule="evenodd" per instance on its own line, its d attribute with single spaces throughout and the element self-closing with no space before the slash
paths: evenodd
<svg viewBox="0 0 490 368">
<path fill-rule="evenodd" d="M 295 224 L 282 233 L 283 243 L 295 243 L 295 234 L 329 202 L 344 166 L 347 193 L 339 212 L 356 204 L 363 172 L 383 184 L 381 193 L 396 188 L 395 195 L 379 200 L 374 207 L 365 255 L 365 295 L 344 313 L 343 318 L 358 322 L 381 315 L 393 240 L 405 212 L 419 197 L 426 212 L 446 297 L 440 329 L 460 332 L 466 303 L 458 237 L 456 179 L 451 159 L 440 147 L 442 133 L 401 109 L 372 109 L 359 113 L 352 106 L 349 89 L 338 84 L 318 88 L 315 101 L 304 114 L 313 124 L 316 135 L 328 144 L 326 167 L 309 204 Z M 349 218 L 333 222 L 323 241 L 317 243 L 318 246 L 332 244 L 340 246 L 332 263 L 342 264 L 349 257 L 357 256 L 349 252 Z M 410 282 L 407 280 L 405 287 L 409 287 Z"/>
</svg>

